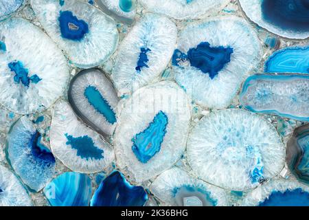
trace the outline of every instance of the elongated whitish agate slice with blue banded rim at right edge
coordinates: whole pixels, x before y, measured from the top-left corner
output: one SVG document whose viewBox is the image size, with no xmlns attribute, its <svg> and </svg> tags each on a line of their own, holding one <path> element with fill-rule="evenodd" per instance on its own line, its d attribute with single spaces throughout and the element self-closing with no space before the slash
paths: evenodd
<svg viewBox="0 0 309 220">
<path fill-rule="evenodd" d="M 242 86 L 240 102 L 253 112 L 309 121 L 309 75 L 250 76 Z"/>
</svg>

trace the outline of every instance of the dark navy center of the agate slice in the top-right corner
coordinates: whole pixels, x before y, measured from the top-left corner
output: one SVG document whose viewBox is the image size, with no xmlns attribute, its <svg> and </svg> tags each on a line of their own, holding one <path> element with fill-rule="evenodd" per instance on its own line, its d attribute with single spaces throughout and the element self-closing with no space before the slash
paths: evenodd
<svg viewBox="0 0 309 220">
<path fill-rule="evenodd" d="M 309 31 L 309 0 L 263 0 L 262 17 L 286 30 Z"/>
</svg>

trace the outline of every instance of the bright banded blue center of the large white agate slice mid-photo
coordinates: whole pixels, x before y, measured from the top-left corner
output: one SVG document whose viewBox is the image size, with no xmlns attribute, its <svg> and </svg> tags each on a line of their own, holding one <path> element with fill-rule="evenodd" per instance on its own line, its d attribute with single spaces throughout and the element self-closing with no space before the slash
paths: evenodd
<svg viewBox="0 0 309 220">
<path fill-rule="evenodd" d="M 140 162 L 146 164 L 160 151 L 167 125 L 168 116 L 159 111 L 149 126 L 133 137 L 132 151 Z"/>
</svg>

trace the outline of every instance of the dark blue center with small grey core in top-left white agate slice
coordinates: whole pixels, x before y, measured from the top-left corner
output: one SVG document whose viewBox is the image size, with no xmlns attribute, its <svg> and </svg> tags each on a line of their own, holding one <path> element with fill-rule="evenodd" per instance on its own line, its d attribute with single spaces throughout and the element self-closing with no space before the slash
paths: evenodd
<svg viewBox="0 0 309 220">
<path fill-rule="evenodd" d="M 82 19 L 78 19 L 70 11 L 60 11 L 58 21 L 60 22 L 61 36 L 65 39 L 80 41 L 89 33 L 88 24 Z"/>
</svg>

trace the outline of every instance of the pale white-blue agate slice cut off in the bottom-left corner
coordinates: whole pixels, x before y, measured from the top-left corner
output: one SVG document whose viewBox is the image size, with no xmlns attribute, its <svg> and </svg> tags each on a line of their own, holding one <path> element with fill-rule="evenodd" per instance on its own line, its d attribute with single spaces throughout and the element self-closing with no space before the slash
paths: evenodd
<svg viewBox="0 0 309 220">
<path fill-rule="evenodd" d="M 8 168 L 0 165 L 0 206 L 32 206 L 30 196 Z"/>
</svg>

